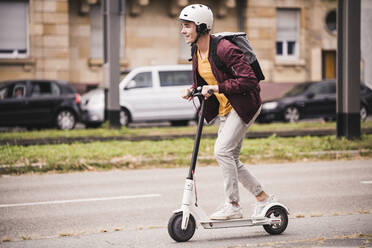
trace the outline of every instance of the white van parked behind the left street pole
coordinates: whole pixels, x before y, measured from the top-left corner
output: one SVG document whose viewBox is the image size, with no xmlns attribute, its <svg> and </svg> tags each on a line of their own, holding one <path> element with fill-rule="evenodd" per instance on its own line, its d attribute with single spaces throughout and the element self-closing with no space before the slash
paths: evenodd
<svg viewBox="0 0 372 248">
<path fill-rule="evenodd" d="M 187 125 L 197 117 L 199 102 L 180 97 L 182 88 L 192 84 L 191 65 L 145 66 L 133 69 L 119 84 L 120 122 L 124 126 L 135 122 L 170 121 L 172 125 Z M 104 121 L 104 89 L 82 95 L 83 122 L 87 127 Z"/>
</svg>

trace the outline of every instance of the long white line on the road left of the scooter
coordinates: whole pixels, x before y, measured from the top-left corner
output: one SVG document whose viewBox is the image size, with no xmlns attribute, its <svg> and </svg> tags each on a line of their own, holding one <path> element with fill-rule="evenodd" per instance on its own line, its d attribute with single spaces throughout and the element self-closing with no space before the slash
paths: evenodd
<svg viewBox="0 0 372 248">
<path fill-rule="evenodd" d="M 75 200 L 27 202 L 27 203 L 15 203 L 15 204 L 1 204 L 0 208 L 37 206 L 37 205 L 49 205 L 49 204 L 65 204 L 65 203 L 77 203 L 77 202 L 92 202 L 92 201 L 112 201 L 112 200 L 125 200 L 125 199 L 140 199 L 140 198 L 152 198 L 152 197 L 160 197 L 160 196 L 161 196 L 160 194 L 122 195 L 122 196 L 113 196 L 113 197 L 86 198 L 86 199 L 75 199 Z"/>
</svg>

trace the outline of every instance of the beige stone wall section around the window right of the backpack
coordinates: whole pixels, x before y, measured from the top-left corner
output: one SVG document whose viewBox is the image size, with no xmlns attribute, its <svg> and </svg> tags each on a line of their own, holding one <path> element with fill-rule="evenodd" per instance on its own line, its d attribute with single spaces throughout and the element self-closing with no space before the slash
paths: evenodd
<svg viewBox="0 0 372 248">
<path fill-rule="evenodd" d="M 247 9 L 247 33 L 264 69 L 267 81 L 303 82 L 322 78 L 322 50 L 336 50 L 337 39 L 325 28 L 325 16 L 337 2 L 328 0 L 251 0 Z M 276 9 L 300 12 L 299 58 L 280 61 L 275 54 Z"/>
</svg>

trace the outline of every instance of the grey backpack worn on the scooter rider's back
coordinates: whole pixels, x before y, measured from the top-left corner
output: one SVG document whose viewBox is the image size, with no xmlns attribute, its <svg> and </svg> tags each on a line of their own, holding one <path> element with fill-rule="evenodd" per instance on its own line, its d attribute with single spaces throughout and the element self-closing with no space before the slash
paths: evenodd
<svg viewBox="0 0 372 248">
<path fill-rule="evenodd" d="M 248 63 L 251 65 L 254 74 L 258 81 L 264 80 L 265 76 L 262 73 L 260 64 L 258 63 L 256 54 L 254 53 L 251 44 L 247 39 L 247 35 L 244 32 L 222 32 L 213 34 L 215 37 L 214 42 L 211 43 L 209 51 L 211 51 L 212 59 L 220 71 L 228 71 L 226 66 L 221 62 L 219 57 L 217 56 L 217 45 L 222 39 L 227 39 L 231 43 L 235 44 L 240 50 L 243 51 Z"/>
</svg>

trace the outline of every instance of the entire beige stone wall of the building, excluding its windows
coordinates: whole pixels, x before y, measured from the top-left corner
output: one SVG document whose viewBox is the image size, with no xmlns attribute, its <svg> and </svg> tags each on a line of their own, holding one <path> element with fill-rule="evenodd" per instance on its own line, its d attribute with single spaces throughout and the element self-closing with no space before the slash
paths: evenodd
<svg viewBox="0 0 372 248">
<path fill-rule="evenodd" d="M 127 0 L 125 47 L 121 69 L 142 65 L 185 63 L 180 54 L 177 14 L 190 0 Z M 199 2 L 199 1 L 198 1 Z M 215 13 L 213 32 L 238 31 L 234 0 L 201 0 Z M 102 60 L 90 58 L 89 8 L 98 0 L 30 0 L 30 58 L 0 59 L 0 81 L 57 78 L 99 84 Z M 171 7 L 169 6 L 171 3 Z M 137 4 L 137 5 L 136 5 Z M 322 78 L 322 51 L 336 50 L 336 35 L 327 32 L 325 16 L 332 0 L 249 0 L 245 31 L 268 82 L 303 82 Z M 299 58 L 278 61 L 275 54 L 276 10 L 300 10 Z"/>
</svg>

